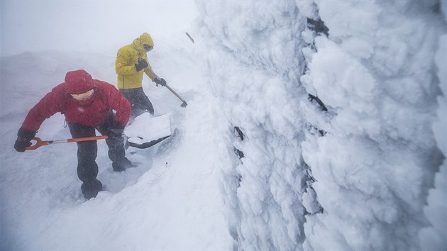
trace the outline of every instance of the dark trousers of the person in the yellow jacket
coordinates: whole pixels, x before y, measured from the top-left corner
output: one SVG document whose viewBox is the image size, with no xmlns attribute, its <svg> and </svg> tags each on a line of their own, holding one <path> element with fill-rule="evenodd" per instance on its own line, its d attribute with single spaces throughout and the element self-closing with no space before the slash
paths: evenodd
<svg viewBox="0 0 447 251">
<path fill-rule="evenodd" d="M 152 103 L 150 103 L 148 96 L 144 93 L 143 87 L 120 89 L 119 91 L 121 91 L 121 94 L 123 94 L 123 96 L 125 96 L 126 99 L 132 104 L 132 118 L 135 118 L 144 112 L 154 114 L 154 107 L 152 106 Z"/>
</svg>

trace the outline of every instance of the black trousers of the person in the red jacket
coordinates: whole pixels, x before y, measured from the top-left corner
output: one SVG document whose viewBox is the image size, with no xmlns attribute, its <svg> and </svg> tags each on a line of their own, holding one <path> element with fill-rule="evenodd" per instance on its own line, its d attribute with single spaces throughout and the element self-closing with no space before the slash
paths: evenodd
<svg viewBox="0 0 447 251">
<path fill-rule="evenodd" d="M 73 138 L 93 137 L 96 135 L 95 129 L 101 135 L 108 135 L 106 144 L 109 147 L 109 158 L 112 162 L 123 160 L 126 155 L 124 150 L 124 139 L 122 135 L 111 133 L 110 126 L 114 124 L 115 116 L 112 113 L 104 123 L 96 128 L 79 123 L 68 123 L 70 133 Z M 77 142 L 77 177 L 82 182 L 89 182 L 96 179 L 98 175 L 98 164 L 96 164 L 96 156 L 98 146 L 96 140 Z"/>
</svg>

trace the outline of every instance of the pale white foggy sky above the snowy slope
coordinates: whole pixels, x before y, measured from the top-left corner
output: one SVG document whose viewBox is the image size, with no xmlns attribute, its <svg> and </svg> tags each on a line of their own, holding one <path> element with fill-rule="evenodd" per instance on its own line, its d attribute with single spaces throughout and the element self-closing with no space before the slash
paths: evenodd
<svg viewBox="0 0 447 251">
<path fill-rule="evenodd" d="M 143 32 L 187 29 L 194 1 L 0 1 L 1 55 L 26 51 L 117 50 Z"/>
</svg>

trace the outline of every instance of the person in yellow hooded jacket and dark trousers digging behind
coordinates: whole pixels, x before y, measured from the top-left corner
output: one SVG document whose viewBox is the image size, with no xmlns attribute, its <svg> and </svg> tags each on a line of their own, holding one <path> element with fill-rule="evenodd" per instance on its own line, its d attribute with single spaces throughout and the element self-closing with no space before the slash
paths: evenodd
<svg viewBox="0 0 447 251">
<path fill-rule="evenodd" d="M 154 41 L 148 33 L 143 33 L 133 43 L 118 50 L 115 70 L 118 75 L 118 89 L 132 104 L 132 118 L 143 112 L 154 114 L 154 108 L 143 91 L 143 72 L 155 84 L 166 85 L 165 79 L 158 78 L 148 62 L 146 52 L 154 48 Z"/>
</svg>

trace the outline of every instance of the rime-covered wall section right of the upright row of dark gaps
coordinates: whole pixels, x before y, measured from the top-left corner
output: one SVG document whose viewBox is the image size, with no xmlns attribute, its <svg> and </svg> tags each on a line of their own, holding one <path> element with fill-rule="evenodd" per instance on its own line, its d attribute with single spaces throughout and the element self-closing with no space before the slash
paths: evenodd
<svg viewBox="0 0 447 251">
<path fill-rule="evenodd" d="M 314 39 L 302 82 L 336 116 L 321 125 L 326 137 L 302 144 L 325 209 L 307 218 L 305 245 L 418 250 L 443 160 L 431 130 L 440 95 L 434 55 L 446 28 L 439 2 L 316 5 L 329 38 Z"/>
</svg>

